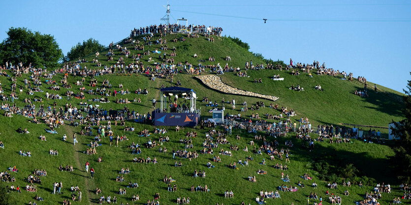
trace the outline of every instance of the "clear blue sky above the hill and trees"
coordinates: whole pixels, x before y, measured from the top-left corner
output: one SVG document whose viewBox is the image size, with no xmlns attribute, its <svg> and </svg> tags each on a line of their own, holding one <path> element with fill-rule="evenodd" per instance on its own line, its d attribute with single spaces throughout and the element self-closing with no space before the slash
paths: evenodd
<svg viewBox="0 0 411 205">
<path fill-rule="evenodd" d="M 169 3 L 171 23 L 185 17 L 189 24 L 222 27 L 223 35 L 239 37 L 250 44 L 251 51 L 267 59 L 286 63 L 290 58 L 304 63 L 318 60 L 327 67 L 352 72 L 355 77 L 365 76 L 368 81 L 398 91 L 411 79 L 408 61 L 411 1 L 408 0 L 170 0 Z M 129 35 L 134 27 L 160 24 L 165 4 L 166 0 L 1 0 L 0 39 L 6 38 L 10 27 L 27 27 L 54 35 L 66 54 L 77 42 L 90 37 L 108 45 Z M 254 18 L 268 21 L 264 24 Z"/>
</svg>

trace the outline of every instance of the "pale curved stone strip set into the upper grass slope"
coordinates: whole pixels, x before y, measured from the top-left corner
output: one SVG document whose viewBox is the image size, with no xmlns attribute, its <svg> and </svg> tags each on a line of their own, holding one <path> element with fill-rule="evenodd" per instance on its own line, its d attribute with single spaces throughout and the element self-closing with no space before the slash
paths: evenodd
<svg viewBox="0 0 411 205">
<path fill-rule="evenodd" d="M 268 100 L 273 100 L 276 101 L 278 97 L 272 96 L 272 95 L 263 95 L 263 94 L 258 94 L 255 92 L 251 91 L 246 91 L 238 88 L 233 88 L 231 86 L 228 86 L 227 84 L 224 84 L 221 82 L 221 78 L 216 75 L 203 75 L 203 76 L 196 76 L 198 79 L 201 80 L 206 86 L 219 90 L 221 92 L 229 93 L 229 94 L 237 94 L 237 95 L 246 95 L 246 96 L 252 96 L 252 97 L 259 97 L 259 98 L 265 98 Z"/>
</svg>

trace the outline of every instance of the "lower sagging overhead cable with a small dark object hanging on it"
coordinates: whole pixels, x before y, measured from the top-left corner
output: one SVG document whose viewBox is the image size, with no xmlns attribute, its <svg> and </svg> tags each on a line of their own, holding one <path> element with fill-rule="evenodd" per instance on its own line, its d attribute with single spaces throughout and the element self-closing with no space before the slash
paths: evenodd
<svg viewBox="0 0 411 205">
<path fill-rule="evenodd" d="M 263 19 L 263 18 L 251 18 L 251 17 L 243 17 L 243 16 L 231 16 L 231 15 L 222 15 L 222 14 L 210 14 L 210 13 L 202 13 L 202 12 L 194 12 L 194 11 L 181 11 L 181 10 L 173 10 L 176 12 L 184 12 L 184 13 L 193 13 L 193 14 L 202 14 L 202 15 L 210 15 L 210 16 L 223 16 L 223 17 L 230 17 L 230 18 L 239 18 L 239 19 L 250 19 L 250 20 L 264 20 L 264 21 L 307 21 L 307 22 L 411 22 L 411 19 Z"/>
</svg>

